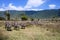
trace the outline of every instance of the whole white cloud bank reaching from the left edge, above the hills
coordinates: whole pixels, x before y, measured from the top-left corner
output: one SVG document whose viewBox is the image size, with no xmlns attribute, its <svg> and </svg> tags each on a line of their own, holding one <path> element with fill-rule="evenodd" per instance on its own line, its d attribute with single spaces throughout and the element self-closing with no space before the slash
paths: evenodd
<svg viewBox="0 0 60 40">
<path fill-rule="evenodd" d="M 2 8 L 0 8 L 0 11 L 5 11 L 5 10 L 23 10 L 23 7 L 21 6 L 16 7 L 12 3 L 10 3 L 7 7 L 5 7 L 3 4 Z"/>
</svg>

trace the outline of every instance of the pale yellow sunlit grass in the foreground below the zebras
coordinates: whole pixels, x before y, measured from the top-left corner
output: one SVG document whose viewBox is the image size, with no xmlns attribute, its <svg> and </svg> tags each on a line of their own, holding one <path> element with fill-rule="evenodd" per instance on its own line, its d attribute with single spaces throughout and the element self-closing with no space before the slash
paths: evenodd
<svg viewBox="0 0 60 40">
<path fill-rule="evenodd" d="M 2 23 L 0 23 L 2 24 Z M 0 25 L 0 30 L 4 30 L 8 35 L 8 40 L 60 40 L 60 33 L 54 25 L 32 25 L 25 29 L 6 31 L 4 24 Z"/>
</svg>

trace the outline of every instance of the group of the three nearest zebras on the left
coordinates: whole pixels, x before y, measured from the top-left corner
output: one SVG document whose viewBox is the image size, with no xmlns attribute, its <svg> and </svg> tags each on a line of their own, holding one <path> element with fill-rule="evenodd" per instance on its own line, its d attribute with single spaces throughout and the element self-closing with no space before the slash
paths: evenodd
<svg viewBox="0 0 60 40">
<path fill-rule="evenodd" d="M 13 22 L 13 23 L 10 23 L 9 21 L 5 22 L 5 29 L 7 31 L 12 31 L 12 27 L 15 29 L 15 30 L 19 30 L 19 28 L 21 29 L 25 29 L 26 27 L 26 24 L 25 23 L 18 23 L 18 22 Z"/>
</svg>

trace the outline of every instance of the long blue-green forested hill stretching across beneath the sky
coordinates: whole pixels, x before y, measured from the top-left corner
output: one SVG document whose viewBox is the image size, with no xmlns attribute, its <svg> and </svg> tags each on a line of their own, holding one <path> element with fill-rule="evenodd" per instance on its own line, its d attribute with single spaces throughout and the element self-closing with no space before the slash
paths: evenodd
<svg viewBox="0 0 60 40">
<path fill-rule="evenodd" d="M 4 16 L 5 11 L 0 11 L 0 17 Z M 28 17 L 31 18 L 52 18 L 52 17 L 60 17 L 60 9 L 50 9 L 50 10 L 42 10 L 42 11 L 16 11 L 9 10 L 11 18 L 15 18 L 20 16 L 20 14 L 25 13 Z"/>
</svg>

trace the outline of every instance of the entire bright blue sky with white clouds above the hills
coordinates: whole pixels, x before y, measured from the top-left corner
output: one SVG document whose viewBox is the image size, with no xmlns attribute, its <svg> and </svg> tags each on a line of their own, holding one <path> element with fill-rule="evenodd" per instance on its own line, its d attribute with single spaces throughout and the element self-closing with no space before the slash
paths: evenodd
<svg viewBox="0 0 60 40">
<path fill-rule="evenodd" d="M 0 11 L 59 9 L 60 0 L 0 0 Z"/>
</svg>

